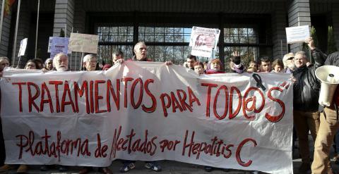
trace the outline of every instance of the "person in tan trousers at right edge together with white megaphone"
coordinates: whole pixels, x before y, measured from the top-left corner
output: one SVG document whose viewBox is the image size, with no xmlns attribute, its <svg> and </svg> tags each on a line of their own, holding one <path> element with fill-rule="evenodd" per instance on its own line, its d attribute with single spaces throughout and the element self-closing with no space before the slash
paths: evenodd
<svg viewBox="0 0 339 174">
<path fill-rule="evenodd" d="M 320 126 L 314 144 L 312 173 L 333 173 L 329 152 L 335 132 L 339 128 L 339 51 L 328 55 L 325 66 L 316 70 L 316 77 L 321 80 L 319 104 L 321 104 Z"/>
</svg>

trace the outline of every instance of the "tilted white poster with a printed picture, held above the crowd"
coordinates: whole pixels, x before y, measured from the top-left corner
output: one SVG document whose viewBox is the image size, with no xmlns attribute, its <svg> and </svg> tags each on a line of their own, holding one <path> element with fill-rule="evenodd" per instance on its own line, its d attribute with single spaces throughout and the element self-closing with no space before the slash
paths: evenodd
<svg viewBox="0 0 339 174">
<path fill-rule="evenodd" d="M 194 56 L 212 56 L 212 50 L 216 48 L 220 30 L 205 27 L 192 27 L 189 46 L 192 46 L 191 54 Z"/>
</svg>

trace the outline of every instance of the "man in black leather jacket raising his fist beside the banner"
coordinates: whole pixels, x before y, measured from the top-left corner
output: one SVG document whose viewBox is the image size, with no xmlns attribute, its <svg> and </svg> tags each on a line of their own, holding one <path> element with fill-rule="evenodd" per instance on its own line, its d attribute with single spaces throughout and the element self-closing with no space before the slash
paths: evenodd
<svg viewBox="0 0 339 174">
<path fill-rule="evenodd" d="M 302 165 L 299 173 L 307 173 L 311 169 L 311 158 L 309 155 L 309 131 L 311 136 L 316 139 L 316 133 L 319 129 L 318 99 L 320 83 L 316 80 L 315 70 L 323 66 L 326 56 L 314 47 L 314 41 L 311 37 L 305 40 L 311 56 L 314 57 L 315 65 L 307 67 L 307 56 L 304 51 L 295 54 L 295 70 L 293 76 L 293 119 L 299 138 L 299 154 L 302 157 Z"/>
</svg>

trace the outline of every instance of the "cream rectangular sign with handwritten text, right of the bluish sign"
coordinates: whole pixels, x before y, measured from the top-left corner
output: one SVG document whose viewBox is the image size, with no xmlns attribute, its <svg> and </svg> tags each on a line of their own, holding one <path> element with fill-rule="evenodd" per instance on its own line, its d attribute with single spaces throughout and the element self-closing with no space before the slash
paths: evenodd
<svg viewBox="0 0 339 174">
<path fill-rule="evenodd" d="M 85 35 L 72 32 L 69 39 L 69 50 L 97 54 L 98 42 L 98 35 Z"/>
</svg>

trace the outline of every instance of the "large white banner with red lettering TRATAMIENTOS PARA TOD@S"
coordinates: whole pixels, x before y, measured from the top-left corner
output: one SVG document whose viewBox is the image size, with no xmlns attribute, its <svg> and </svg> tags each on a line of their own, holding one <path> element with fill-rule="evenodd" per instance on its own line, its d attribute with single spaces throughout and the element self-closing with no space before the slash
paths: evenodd
<svg viewBox="0 0 339 174">
<path fill-rule="evenodd" d="M 182 66 L 133 61 L 105 72 L 6 69 L 0 82 L 6 163 L 166 159 L 292 173 L 289 78 L 198 76 Z"/>
</svg>

